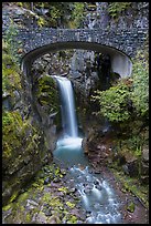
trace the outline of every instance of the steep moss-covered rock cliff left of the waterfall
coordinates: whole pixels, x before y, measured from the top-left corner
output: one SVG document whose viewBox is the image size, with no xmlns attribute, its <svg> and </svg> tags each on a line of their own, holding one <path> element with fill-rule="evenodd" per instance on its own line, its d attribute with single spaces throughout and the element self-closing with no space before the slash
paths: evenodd
<svg viewBox="0 0 151 226">
<path fill-rule="evenodd" d="M 23 74 L 3 42 L 2 49 L 2 204 L 13 201 L 42 165 L 52 161 L 42 124 L 24 101 Z"/>
</svg>

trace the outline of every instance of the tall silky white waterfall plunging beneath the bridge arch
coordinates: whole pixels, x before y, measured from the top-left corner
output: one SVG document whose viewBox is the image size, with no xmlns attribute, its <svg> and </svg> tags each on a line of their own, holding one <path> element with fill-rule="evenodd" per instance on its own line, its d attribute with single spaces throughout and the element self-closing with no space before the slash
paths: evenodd
<svg viewBox="0 0 151 226">
<path fill-rule="evenodd" d="M 67 78 L 54 75 L 61 92 L 62 126 L 64 136 L 77 137 L 77 120 L 75 113 L 74 92 Z"/>
</svg>

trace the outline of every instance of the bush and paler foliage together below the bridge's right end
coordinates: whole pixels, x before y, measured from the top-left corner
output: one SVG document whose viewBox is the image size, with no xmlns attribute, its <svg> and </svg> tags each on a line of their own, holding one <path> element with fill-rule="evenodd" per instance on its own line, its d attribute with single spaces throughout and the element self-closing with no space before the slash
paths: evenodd
<svg viewBox="0 0 151 226">
<path fill-rule="evenodd" d="M 149 63 L 148 54 L 138 52 L 133 60 L 131 79 L 120 80 L 106 91 L 96 91 L 93 96 L 98 101 L 101 114 L 110 122 L 126 123 L 149 117 Z"/>
</svg>

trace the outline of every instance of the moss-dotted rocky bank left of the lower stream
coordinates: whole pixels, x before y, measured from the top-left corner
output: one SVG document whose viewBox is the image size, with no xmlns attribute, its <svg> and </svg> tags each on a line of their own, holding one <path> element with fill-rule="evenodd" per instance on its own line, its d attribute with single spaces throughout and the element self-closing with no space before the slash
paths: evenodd
<svg viewBox="0 0 151 226">
<path fill-rule="evenodd" d="M 84 223 L 75 187 L 67 183 L 67 171 L 46 165 L 11 204 L 2 209 L 3 224 L 74 224 Z"/>
</svg>

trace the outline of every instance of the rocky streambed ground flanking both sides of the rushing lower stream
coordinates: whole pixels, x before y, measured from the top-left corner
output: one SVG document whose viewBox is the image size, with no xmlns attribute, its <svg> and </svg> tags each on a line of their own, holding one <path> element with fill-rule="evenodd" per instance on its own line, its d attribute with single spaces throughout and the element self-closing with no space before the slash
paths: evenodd
<svg viewBox="0 0 151 226">
<path fill-rule="evenodd" d="M 86 168 L 80 166 L 83 171 Z M 114 187 L 121 223 L 149 223 L 148 209 L 123 189 L 111 171 L 104 167 L 99 174 L 95 170 L 89 173 Z M 89 192 L 88 187 L 86 192 Z M 84 208 L 71 172 L 56 163 L 45 165 L 18 198 L 2 208 L 2 224 L 87 224 L 90 216 L 91 212 Z"/>
</svg>

